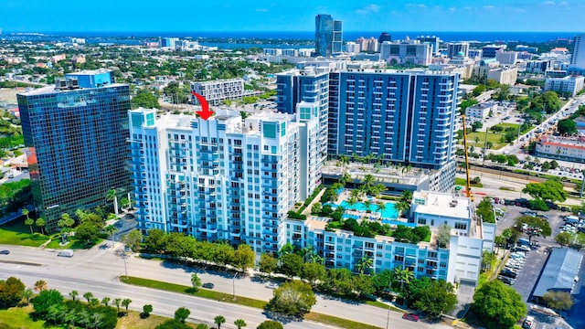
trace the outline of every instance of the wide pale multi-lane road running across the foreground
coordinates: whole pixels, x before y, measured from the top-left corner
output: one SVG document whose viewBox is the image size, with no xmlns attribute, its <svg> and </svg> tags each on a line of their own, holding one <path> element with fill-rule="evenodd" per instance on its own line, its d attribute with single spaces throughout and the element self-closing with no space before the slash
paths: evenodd
<svg viewBox="0 0 585 329">
<path fill-rule="evenodd" d="M 120 283 L 117 278 L 124 272 L 124 261 L 118 255 L 122 245 L 117 250 L 96 247 L 90 250 L 79 250 L 73 258 L 57 257 L 53 250 L 22 248 L 16 246 L 0 246 L 0 249 L 10 249 L 10 255 L 1 255 L 2 271 L 0 279 L 16 276 L 32 287 L 37 280 L 48 281 L 49 288 L 58 289 L 64 295 L 72 290 L 81 294 L 93 292 L 102 298 L 131 298 L 130 308 L 141 311 L 146 303 L 154 306 L 154 313 L 172 317 L 176 309 L 186 306 L 191 311 L 189 320 L 192 322 L 213 323 L 213 318 L 224 315 L 228 322 L 226 328 L 234 328 L 233 321 L 244 319 L 250 327 L 256 327 L 266 320 L 262 310 L 232 303 L 214 302 L 197 297 L 187 296 L 173 292 L 162 292 L 143 287 L 134 287 Z M 14 261 L 10 263 L 7 261 Z M 130 258 L 126 268 L 128 275 L 143 277 L 159 281 L 169 281 L 188 285 L 191 273 L 195 269 L 184 268 L 180 265 L 158 261 Z M 213 273 L 197 270 L 201 281 L 213 282 L 214 290 L 218 292 L 232 293 L 235 289 L 239 296 L 268 301 L 272 291 L 264 286 L 264 282 L 253 278 L 233 279 L 225 273 Z M 338 300 L 317 297 L 314 312 L 326 313 L 346 319 L 376 325 L 380 328 L 387 326 L 388 312 L 384 309 L 342 302 Z M 280 320 L 280 319 L 279 319 Z M 412 323 L 401 319 L 401 313 L 390 312 L 389 323 L 392 328 L 447 328 L 441 324 Z M 222 326 L 223 327 L 223 326 Z M 303 321 L 285 324 L 286 328 L 331 328 L 332 326 Z"/>
</svg>

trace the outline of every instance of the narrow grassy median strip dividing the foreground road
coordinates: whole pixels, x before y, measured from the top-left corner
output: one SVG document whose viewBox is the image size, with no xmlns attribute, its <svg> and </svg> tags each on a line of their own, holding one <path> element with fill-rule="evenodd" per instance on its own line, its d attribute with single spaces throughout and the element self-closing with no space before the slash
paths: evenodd
<svg viewBox="0 0 585 329">
<path fill-rule="evenodd" d="M 197 296 L 201 298 L 206 298 L 218 302 L 231 302 L 236 303 L 239 305 L 250 306 L 257 309 L 264 309 L 264 306 L 268 302 L 255 300 L 252 298 L 236 296 L 234 298 L 233 295 L 224 292 L 213 292 L 207 289 L 199 289 L 197 292 L 193 290 L 193 287 L 189 287 L 182 284 L 176 283 L 169 283 L 164 281 L 155 281 L 150 279 L 144 278 L 137 278 L 131 276 L 120 276 L 120 281 L 127 284 L 132 284 L 135 286 L 146 287 L 146 288 L 153 288 L 158 289 L 166 292 L 178 292 L 184 293 L 192 296 Z M 304 315 L 305 320 L 310 320 L 314 322 L 320 322 L 323 324 L 333 324 L 341 328 L 348 328 L 348 329 L 378 329 L 377 326 L 370 325 L 370 324 L 361 324 L 355 321 L 342 319 L 336 316 L 331 316 L 323 313 L 308 313 Z"/>
</svg>

